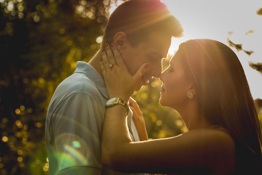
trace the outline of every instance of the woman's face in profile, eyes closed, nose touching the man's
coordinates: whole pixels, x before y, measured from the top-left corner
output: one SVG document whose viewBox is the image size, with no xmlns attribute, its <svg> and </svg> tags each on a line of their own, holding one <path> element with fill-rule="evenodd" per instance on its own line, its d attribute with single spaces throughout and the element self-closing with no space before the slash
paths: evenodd
<svg viewBox="0 0 262 175">
<path fill-rule="evenodd" d="M 159 103 L 162 106 L 168 106 L 179 109 L 184 106 L 187 98 L 187 92 L 192 87 L 191 81 L 187 78 L 180 57 L 175 54 L 170 60 L 169 67 L 160 75 L 162 81 L 162 91 L 160 92 Z"/>
</svg>

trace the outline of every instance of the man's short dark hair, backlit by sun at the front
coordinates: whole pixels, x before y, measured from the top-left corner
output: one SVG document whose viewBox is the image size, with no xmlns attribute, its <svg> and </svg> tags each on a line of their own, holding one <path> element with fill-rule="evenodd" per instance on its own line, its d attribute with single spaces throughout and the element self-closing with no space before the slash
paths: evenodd
<svg viewBox="0 0 262 175">
<path fill-rule="evenodd" d="M 183 28 L 167 6 L 160 0 L 128 0 L 109 17 L 102 44 L 112 43 L 117 32 L 127 35 L 131 46 L 145 41 L 151 31 L 179 38 Z"/>
</svg>

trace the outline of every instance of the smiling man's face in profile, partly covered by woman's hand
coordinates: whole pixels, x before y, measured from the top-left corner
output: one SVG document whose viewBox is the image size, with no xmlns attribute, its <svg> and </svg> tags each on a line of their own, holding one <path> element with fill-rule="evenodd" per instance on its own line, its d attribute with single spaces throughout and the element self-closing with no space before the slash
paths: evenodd
<svg viewBox="0 0 262 175">
<path fill-rule="evenodd" d="M 139 43 L 136 47 L 127 44 L 121 55 L 131 75 L 134 75 L 141 65 L 151 64 L 150 69 L 141 77 L 135 91 L 143 85 L 148 85 L 152 77 L 159 78 L 162 72 L 162 58 L 167 56 L 171 44 L 171 36 L 158 32 L 151 32 L 148 40 Z"/>
</svg>

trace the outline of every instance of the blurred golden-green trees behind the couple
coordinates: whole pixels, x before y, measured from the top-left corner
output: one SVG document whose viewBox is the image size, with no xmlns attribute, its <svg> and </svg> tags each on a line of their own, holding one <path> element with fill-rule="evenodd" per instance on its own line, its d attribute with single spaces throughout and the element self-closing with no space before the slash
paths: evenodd
<svg viewBox="0 0 262 175">
<path fill-rule="evenodd" d="M 76 62 L 88 62 L 99 49 L 107 19 L 122 2 L 0 0 L 0 174 L 48 174 L 49 101 Z M 163 68 L 168 64 L 163 60 Z M 133 95 L 151 139 L 187 131 L 176 111 L 159 105 L 160 86 L 154 79 Z"/>
</svg>

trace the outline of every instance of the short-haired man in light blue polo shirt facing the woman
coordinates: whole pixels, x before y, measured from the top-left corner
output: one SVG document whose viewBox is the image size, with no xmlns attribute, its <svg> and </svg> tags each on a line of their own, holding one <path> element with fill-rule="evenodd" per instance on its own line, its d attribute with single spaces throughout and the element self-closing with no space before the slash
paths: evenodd
<svg viewBox="0 0 262 175">
<path fill-rule="evenodd" d="M 151 64 L 137 85 L 138 91 L 148 80 L 159 78 L 171 37 L 181 36 L 180 22 L 162 2 L 129 0 L 109 17 L 101 48 L 113 43 L 132 75 L 142 64 Z M 99 50 L 88 63 L 77 62 L 74 74 L 54 92 L 45 127 L 49 174 L 123 174 L 101 164 L 102 125 L 109 99 L 100 70 L 101 57 Z M 128 127 L 132 141 L 145 140 L 139 138 L 131 110 Z"/>
</svg>

